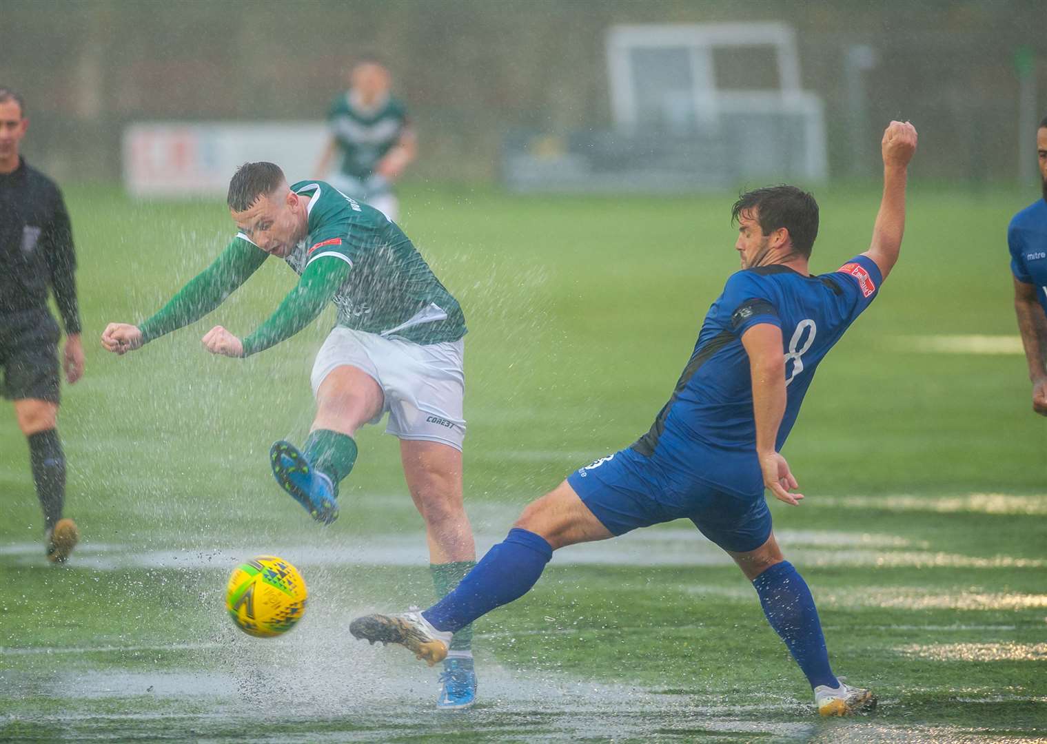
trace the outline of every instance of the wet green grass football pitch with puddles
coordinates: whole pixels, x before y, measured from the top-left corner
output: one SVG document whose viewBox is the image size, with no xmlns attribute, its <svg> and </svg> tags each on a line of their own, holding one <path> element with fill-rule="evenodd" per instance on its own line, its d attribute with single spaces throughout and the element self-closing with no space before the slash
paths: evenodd
<svg viewBox="0 0 1047 744">
<path fill-rule="evenodd" d="M 868 243 L 874 189 L 821 189 L 812 267 Z M 315 525 L 271 482 L 300 441 L 332 322 L 246 361 L 241 335 L 294 276 L 270 261 L 227 306 L 125 358 L 141 320 L 231 231 L 221 199 L 67 193 L 88 351 L 65 388 L 67 515 L 84 541 L 48 566 L 28 455 L 0 426 L 0 740 L 1038 741 L 1047 739 L 1047 422 L 1030 411 L 1005 227 L 1031 193 L 913 184 L 903 258 L 822 364 L 785 447 L 807 495 L 772 506 L 819 604 L 838 674 L 878 712 L 821 721 L 752 587 L 689 523 L 558 553 L 483 618 L 481 702 L 433 708 L 436 673 L 356 641 L 355 614 L 431 600 L 421 520 L 392 437 L 359 436 L 341 517 Z M 464 307 L 466 505 L 481 550 L 571 469 L 646 431 L 737 268 L 732 195 L 513 198 L 416 187 L 404 227 Z M 8 407 L 9 410 L 9 407 Z M 279 553 L 306 616 L 240 633 L 225 580 Z"/>
</svg>

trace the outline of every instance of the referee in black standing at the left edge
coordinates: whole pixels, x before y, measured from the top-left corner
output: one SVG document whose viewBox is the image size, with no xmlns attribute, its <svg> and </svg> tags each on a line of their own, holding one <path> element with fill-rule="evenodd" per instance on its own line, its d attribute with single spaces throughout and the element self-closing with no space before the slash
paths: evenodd
<svg viewBox="0 0 1047 744">
<path fill-rule="evenodd" d="M 62 518 L 66 461 L 58 433 L 59 326 L 47 309 L 48 288 L 62 315 L 62 367 L 69 384 L 84 374 L 76 256 L 69 213 L 59 187 L 20 155 L 28 129 L 22 97 L 0 87 L 0 373 L 29 441 L 29 461 L 44 511 L 47 558 L 64 563 L 79 533 Z"/>
</svg>

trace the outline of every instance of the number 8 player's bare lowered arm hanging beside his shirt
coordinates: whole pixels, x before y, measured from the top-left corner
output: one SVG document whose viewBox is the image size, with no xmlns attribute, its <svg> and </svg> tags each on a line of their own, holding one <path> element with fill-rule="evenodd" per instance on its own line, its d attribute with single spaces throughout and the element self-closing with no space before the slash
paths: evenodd
<svg viewBox="0 0 1047 744">
<path fill-rule="evenodd" d="M 753 381 L 756 454 L 763 471 L 763 486 L 778 500 L 796 506 L 803 494 L 789 493 L 790 489 L 799 488 L 799 483 L 776 446 L 786 402 L 782 330 L 773 323 L 753 325 L 741 335 L 741 345 L 749 355 Z"/>
</svg>

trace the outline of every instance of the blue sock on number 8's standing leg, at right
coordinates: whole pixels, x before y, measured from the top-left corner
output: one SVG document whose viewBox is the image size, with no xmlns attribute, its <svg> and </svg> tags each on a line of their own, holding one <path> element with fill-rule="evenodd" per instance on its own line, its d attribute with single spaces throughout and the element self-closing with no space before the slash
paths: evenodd
<svg viewBox="0 0 1047 744">
<path fill-rule="evenodd" d="M 829 667 L 825 636 L 818 619 L 818 610 L 803 577 L 788 561 L 771 566 L 753 580 L 756 593 L 767 622 L 775 629 L 793 658 L 807 675 L 811 687 L 826 684 L 840 686 Z"/>
</svg>

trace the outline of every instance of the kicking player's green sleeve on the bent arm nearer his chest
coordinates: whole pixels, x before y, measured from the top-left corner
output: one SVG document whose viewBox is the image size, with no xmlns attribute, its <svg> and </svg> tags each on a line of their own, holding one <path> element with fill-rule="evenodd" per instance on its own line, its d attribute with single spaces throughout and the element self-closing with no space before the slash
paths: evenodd
<svg viewBox="0 0 1047 744">
<path fill-rule="evenodd" d="M 316 319 L 349 277 L 352 263 L 330 255 L 314 255 L 302 272 L 297 286 L 284 298 L 254 333 L 244 339 L 244 356 L 286 341 Z"/>
</svg>

